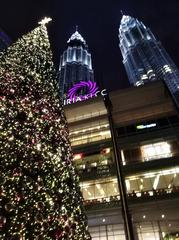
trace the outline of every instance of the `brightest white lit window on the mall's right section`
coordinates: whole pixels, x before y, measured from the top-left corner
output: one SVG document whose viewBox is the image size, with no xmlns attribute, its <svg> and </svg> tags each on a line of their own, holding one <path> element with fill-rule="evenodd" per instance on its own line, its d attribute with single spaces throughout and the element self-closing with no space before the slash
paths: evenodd
<svg viewBox="0 0 179 240">
<path fill-rule="evenodd" d="M 141 151 L 144 161 L 172 156 L 170 144 L 167 142 L 158 142 L 141 146 Z"/>
</svg>

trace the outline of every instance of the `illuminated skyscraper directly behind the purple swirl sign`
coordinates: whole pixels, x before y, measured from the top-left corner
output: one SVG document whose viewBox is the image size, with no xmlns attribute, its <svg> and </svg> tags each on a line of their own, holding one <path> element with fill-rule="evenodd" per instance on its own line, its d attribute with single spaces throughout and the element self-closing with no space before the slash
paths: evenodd
<svg viewBox="0 0 179 240">
<path fill-rule="evenodd" d="M 60 95 L 80 81 L 94 81 L 91 54 L 86 41 L 76 29 L 67 41 L 67 49 L 63 52 L 59 65 Z"/>
</svg>

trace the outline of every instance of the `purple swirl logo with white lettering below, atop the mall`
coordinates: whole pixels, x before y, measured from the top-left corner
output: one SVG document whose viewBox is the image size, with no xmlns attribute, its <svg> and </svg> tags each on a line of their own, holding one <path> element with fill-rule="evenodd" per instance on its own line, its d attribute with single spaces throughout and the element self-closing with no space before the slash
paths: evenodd
<svg viewBox="0 0 179 240">
<path fill-rule="evenodd" d="M 85 94 L 80 94 L 80 92 L 85 92 Z M 81 81 L 76 83 L 66 94 L 66 99 L 64 99 L 64 105 L 69 105 L 76 102 L 82 102 L 88 100 L 90 98 L 94 98 L 97 96 L 105 96 L 107 95 L 107 90 L 99 90 L 99 87 L 96 85 L 96 82 L 92 81 Z"/>
</svg>

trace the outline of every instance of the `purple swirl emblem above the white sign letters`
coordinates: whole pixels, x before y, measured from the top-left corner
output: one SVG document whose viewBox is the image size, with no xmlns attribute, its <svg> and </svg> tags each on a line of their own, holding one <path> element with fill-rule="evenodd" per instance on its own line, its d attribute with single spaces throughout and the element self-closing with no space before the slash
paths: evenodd
<svg viewBox="0 0 179 240">
<path fill-rule="evenodd" d="M 80 97 L 81 99 L 86 99 L 85 95 L 81 95 L 79 96 L 79 92 L 80 90 L 86 89 L 85 91 L 85 95 L 89 95 L 90 97 L 93 97 L 96 95 L 97 90 L 99 89 L 99 87 L 96 86 L 95 82 L 92 81 L 81 81 L 80 83 L 75 84 L 72 88 L 70 88 L 70 90 L 67 93 L 67 98 L 69 98 L 71 101 L 73 99 L 76 99 L 78 97 Z"/>
</svg>

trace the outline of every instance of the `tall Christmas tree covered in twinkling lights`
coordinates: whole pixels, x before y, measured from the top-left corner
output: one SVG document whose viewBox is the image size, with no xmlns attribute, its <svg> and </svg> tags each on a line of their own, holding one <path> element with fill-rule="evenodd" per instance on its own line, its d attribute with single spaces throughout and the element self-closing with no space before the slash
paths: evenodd
<svg viewBox="0 0 179 240">
<path fill-rule="evenodd" d="M 0 54 L 0 239 L 91 239 L 45 22 Z"/>
</svg>

